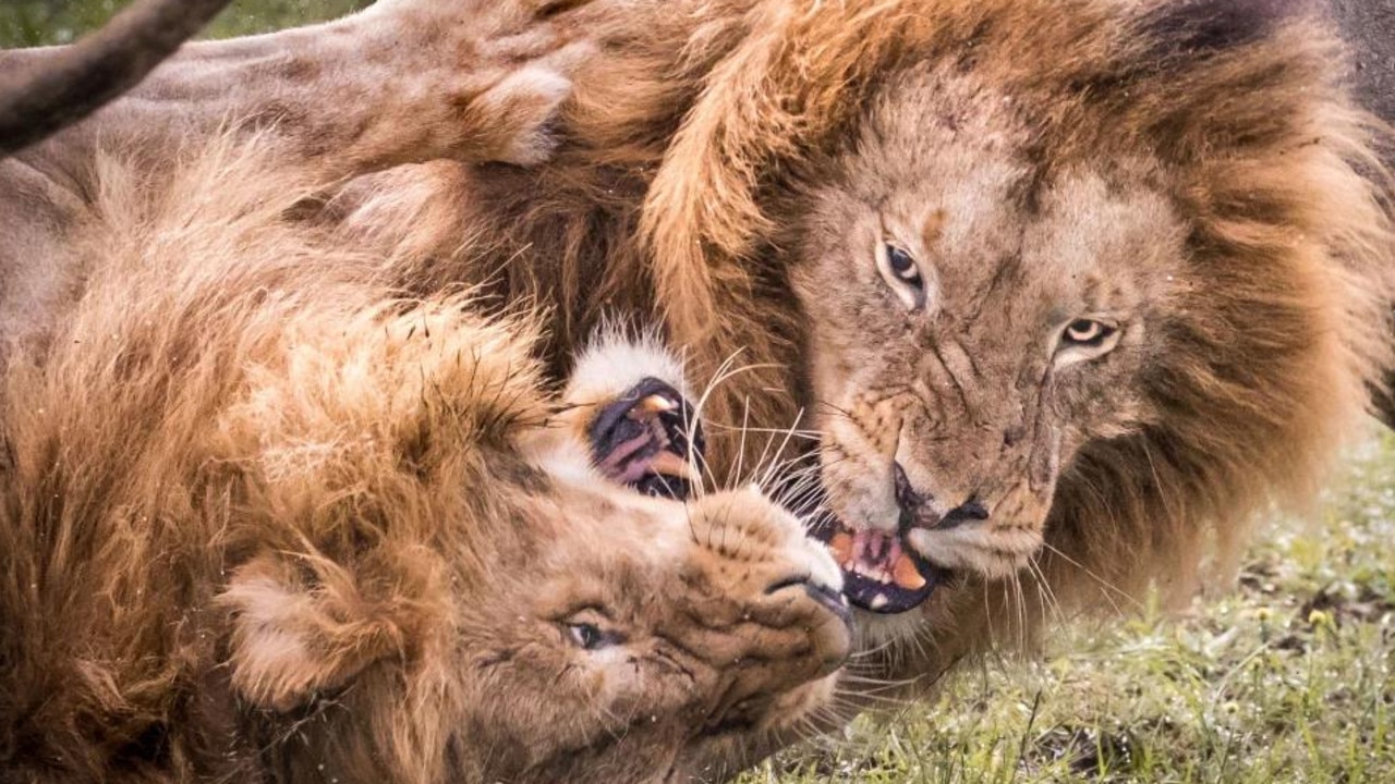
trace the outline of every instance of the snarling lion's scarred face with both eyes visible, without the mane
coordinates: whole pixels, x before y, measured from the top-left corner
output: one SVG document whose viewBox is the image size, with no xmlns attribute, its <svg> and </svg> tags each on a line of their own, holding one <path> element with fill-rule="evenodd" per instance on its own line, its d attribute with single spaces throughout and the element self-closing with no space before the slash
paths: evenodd
<svg viewBox="0 0 1395 784">
<path fill-rule="evenodd" d="M 1042 181 L 1031 142 L 1003 95 L 903 75 L 809 193 L 791 283 L 864 607 L 907 610 L 939 569 L 1025 566 L 1081 445 L 1152 413 L 1180 222 L 1147 163 Z"/>
</svg>

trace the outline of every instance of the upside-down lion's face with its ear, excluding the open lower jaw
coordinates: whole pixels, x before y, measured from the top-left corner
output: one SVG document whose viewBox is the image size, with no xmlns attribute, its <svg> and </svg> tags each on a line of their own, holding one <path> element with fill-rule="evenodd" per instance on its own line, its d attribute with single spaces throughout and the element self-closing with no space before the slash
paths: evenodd
<svg viewBox="0 0 1395 784">
<path fill-rule="evenodd" d="M 431 491 L 413 480 L 338 508 L 365 518 L 364 538 L 386 519 L 377 499 L 469 536 L 345 564 L 268 550 L 219 597 L 241 699 L 290 717 L 322 695 L 342 706 L 293 764 L 343 780 L 665 781 L 691 748 L 830 704 L 852 644 L 838 566 L 756 488 L 643 495 L 593 467 L 565 424 L 523 428 L 491 453 L 487 484 L 458 473 L 470 455 L 446 437 L 435 449 Z M 395 759 L 354 742 L 384 725 Z"/>
</svg>

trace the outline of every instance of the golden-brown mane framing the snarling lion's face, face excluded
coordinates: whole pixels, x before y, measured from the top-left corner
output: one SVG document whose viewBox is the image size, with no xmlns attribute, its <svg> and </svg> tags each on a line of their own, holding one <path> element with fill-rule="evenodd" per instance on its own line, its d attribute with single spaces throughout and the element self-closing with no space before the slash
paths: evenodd
<svg viewBox="0 0 1395 784">
<path fill-rule="evenodd" d="M 407 211 L 403 230 L 437 246 L 412 285 L 555 304 L 555 368 L 607 312 L 663 318 L 700 371 L 748 365 L 709 400 L 718 425 L 791 425 L 808 403 L 780 227 L 889 74 L 944 63 L 1013 96 L 1041 179 L 1109 159 L 1173 177 L 1205 283 L 1147 378 L 1165 414 L 1063 470 L 1042 557 L 1057 597 L 1187 589 L 1204 543 L 1233 551 L 1257 511 L 1311 494 L 1391 365 L 1380 131 L 1299 4 L 707 0 L 600 18 L 607 56 L 578 77 L 554 162 L 437 172 L 424 199 L 386 174 L 346 199 L 349 226 Z M 478 252 L 455 252 L 462 233 Z M 714 435 L 731 465 L 737 441 Z M 965 607 L 932 658 L 985 642 L 970 618 L 993 611 Z"/>
</svg>

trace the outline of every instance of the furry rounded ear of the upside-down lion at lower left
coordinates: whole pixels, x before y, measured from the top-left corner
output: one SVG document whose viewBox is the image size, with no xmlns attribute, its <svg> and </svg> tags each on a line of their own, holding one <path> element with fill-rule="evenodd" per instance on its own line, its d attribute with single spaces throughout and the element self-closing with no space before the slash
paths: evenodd
<svg viewBox="0 0 1395 784">
<path fill-rule="evenodd" d="M 409 597 L 365 597 L 353 573 L 311 555 L 250 561 L 218 604 L 232 614 L 233 691 L 278 711 L 342 689 L 375 663 L 406 660 L 437 615 Z"/>
</svg>

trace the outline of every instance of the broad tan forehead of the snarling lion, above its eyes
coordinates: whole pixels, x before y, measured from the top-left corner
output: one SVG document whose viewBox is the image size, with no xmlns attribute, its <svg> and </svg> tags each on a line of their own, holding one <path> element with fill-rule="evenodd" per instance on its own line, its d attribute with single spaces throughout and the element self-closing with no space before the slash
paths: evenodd
<svg viewBox="0 0 1395 784">
<path fill-rule="evenodd" d="M 883 91 L 844 166 L 852 202 L 872 213 L 865 223 L 922 246 L 932 304 L 957 326 L 1007 315 L 1006 326 L 1028 328 L 1165 300 L 1159 289 L 1183 273 L 1183 222 L 1155 162 L 1102 151 L 1062 166 L 1042 155 L 1010 96 L 929 74 Z M 1013 333 L 1003 328 L 983 325 L 988 336 Z"/>
</svg>

